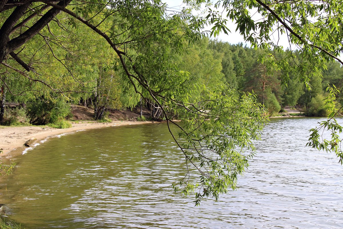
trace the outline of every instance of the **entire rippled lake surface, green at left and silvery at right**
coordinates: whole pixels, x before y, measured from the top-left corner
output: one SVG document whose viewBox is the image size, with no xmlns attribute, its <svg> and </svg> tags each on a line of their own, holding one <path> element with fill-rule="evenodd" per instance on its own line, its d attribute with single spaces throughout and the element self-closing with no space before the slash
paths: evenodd
<svg viewBox="0 0 343 229">
<path fill-rule="evenodd" d="M 173 193 L 184 157 L 161 125 L 50 139 L 2 188 L 11 219 L 33 228 L 342 228 L 342 167 L 305 148 L 320 119 L 273 119 L 239 189 L 194 207 Z"/>
</svg>

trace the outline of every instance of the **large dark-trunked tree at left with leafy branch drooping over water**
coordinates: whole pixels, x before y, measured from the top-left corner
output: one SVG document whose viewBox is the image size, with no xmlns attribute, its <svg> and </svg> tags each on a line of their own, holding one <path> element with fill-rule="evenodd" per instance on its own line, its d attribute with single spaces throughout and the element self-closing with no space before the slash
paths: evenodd
<svg viewBox="0 0 343 229">
<path fill-rule="evenodd" d="M 249 150 L 244 154 L 243 149 L 253 149 L 252 143 L 259 139 L 265 118 L 263 108 L 253 95 L 220 84 L 212 90 L 205 88 L 197 103 L 190 100 L 197 87 L 192 84 L 189 72 L 178 68 L 175 57 L 188 44 L 199 41 L 205 20 L 191 15 L 189 9 L 168 15 L 166 5 L 157 0 L 70 3 L 70 0 L 2 1 L 2 69 L 66 96 L 79 90 L 72 81 L 82 85 L 85 91 L 98 88 L 99 84 L 91 82 L 84 74 L 77 74 L 75 69 L 78 68 L 71 66 L 76 61 L 81 61 L 80 66 L 94 64 L 92 61 L 83 63 L 82 57 L 87 55 L 72 44 L 84 42 L 86 45 L 78 46 L 97 46 L 94 44 L 97 42 L 87 39 L 89 34 L 95 34 L 106 41 L 116 55 L 109 60 L 111 65 L 119 66 L 114 70 L 125 75 L 130 88 L 142 98 L 154 101 L 168 126 L 176 125 L 181 131 L 185 142 L 181 144 L 173 135 L 174 140 L 184 152 L 186 163 L 192 165 L 201 178 L 191 181 L 186 176 L 175 184 L 175 190 L 185 194 L 197 192 L 196 203 L 199 204 L 203 197 L 218 198 L 227 188 L 235 188 L 237 175 L 244 171 L 253 154 Z M 58 33 L 64 35 L 58 36 Z M 41 42 L 40 47 L 26 46 L 35 39 Z M 39 60 L 39 64 L 34 66 L 32 60 Z M 51 71 L 64 70 L 63 74 L 51 74 L 54 80 L 41 74 L 43 65 L 49 63 L 58 65 Z M 217 70 L 220 72 L 221 68 Z M 106 96 L 102 99 L 107 101 Z M 173 122 L 169 111 L 182 117 L 186 126 Z"/>
</svg>

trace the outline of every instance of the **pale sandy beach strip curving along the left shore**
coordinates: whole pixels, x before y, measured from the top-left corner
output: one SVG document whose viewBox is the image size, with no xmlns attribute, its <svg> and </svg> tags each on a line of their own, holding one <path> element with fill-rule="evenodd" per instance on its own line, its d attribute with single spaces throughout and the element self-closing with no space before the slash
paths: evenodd
<svg viewBox="0 0 343 229">
<path fill-rule="evenodd" d="M 29 149 L 30 147 L 24 146 L 25 142 L 30 138 L 37 138 L 36 143 L 50 138 L 57 137 L 60 134 L 74 133 L 80 130 L 86 129 L 97 129 L 110 126 L 124 126 L 124 125 L 137 125 L 151 123 L 148 121 L 112 121 L 111 123 L 97 123 L 97 122 L 79 122 L 72 123 L 71 128 L 58 129 L 51 127 L 42 127 L 42 126 L 20 126 L 20 127 L 0 127 L 0 149 L 2 153 L 0 158 L 13 158 L 18 154 L 23 153 L 23 151 Z"/>
</svg>

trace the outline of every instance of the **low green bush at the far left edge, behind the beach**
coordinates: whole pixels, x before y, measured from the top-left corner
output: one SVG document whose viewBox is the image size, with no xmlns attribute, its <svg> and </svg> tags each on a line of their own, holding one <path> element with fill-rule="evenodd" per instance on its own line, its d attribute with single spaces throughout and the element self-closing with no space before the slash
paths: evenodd
<svg viewBox="0 0 343 229">
<path fill-rule="evenodd" d="M 29 124 L 25 108 L 7 108 L 3 115 L 3 125 L 25 125 Z"/>
</svg>

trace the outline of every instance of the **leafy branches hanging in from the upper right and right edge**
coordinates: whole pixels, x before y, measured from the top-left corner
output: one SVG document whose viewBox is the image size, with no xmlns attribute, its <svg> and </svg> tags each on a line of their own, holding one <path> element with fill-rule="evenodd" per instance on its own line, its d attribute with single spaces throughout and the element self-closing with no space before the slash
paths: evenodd
<svg viewBox="0 0 343 229">
<path fill-rule="evenodd" d="M 343 5 L 338 1 L 269 1 L 269 0 L 243 0 L 226 1 L 218 0 L 211 4 L 209 0 L 207 16 L 213 22 L 211 34 L 218 35 L 220 31 L 227 33 L 226 17 L 237 24 L 237 30 L 244 36 L 245 41 L 250 42 L 255 48 L 261 47 L 267 52 L 281 54 L 281 58 L 275 59 L 270 68 L 286 70 L 283 80 L 288 80 L 289 73 L 298 74 L 300 80 L 310 89 L 310 79 L 320 77 L 321 69 L 326 69 L 326 63 L 336 60 L 341 65 L 343 60 L 339 54 L 342 52 L 342 38 L 340 28 L 343 25 Z M 226 14 L 219 13 L 225 9 Z M 258 20 L 253 15 L 257 11 Z M 289 41 L 286 51 L 279 44 L 279 39 L 273 40 L 273 36 L 284 34 Z M 280 37 L 279 37 L 280 38 Z M 297 55 L 301 60 L 294 60 L 297 47 Z M 291 60 L 291 61 L 288 61 Z M 318 128 L 312 129 L 309 138 L 309 146 L 333 151 L 343 163 L 343 152 L 340 147 L 341 139 L 338 133 L 342 132 L 335 116 L 342 110 L 342 106 L 336 104 L 342 101 L 340 90 L 336 87 L 328 88 L 329 96 L 326 98 L 326 106 L 330 110 L 329 119 L 322 122 Z M 319 130 L 329 130 L 332 137 L 329 140 L 321 140 Z"/>
</svg>

